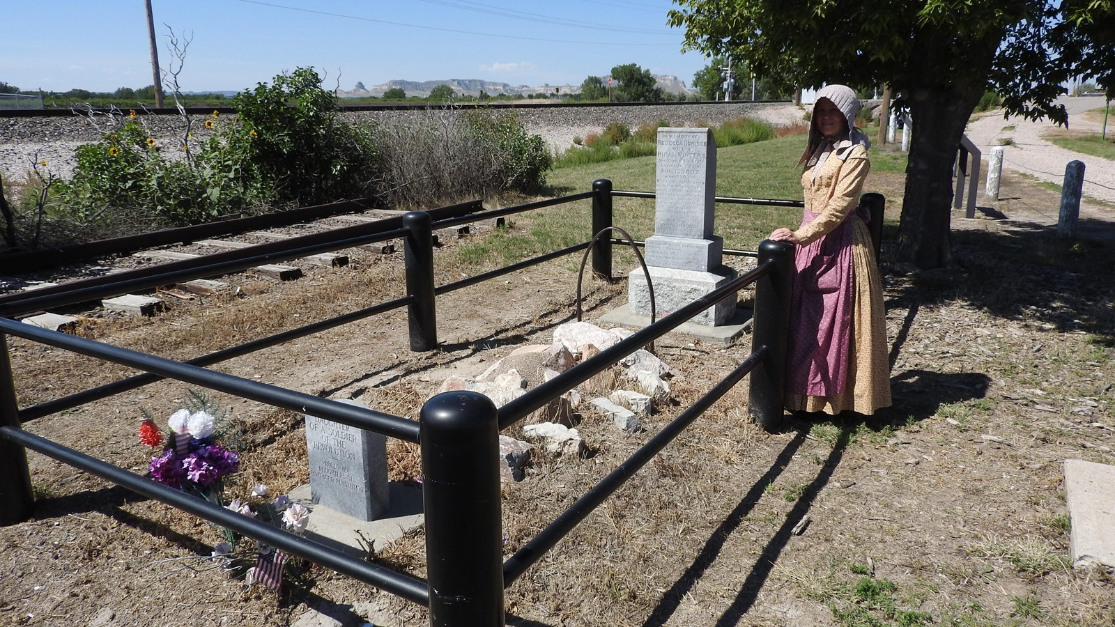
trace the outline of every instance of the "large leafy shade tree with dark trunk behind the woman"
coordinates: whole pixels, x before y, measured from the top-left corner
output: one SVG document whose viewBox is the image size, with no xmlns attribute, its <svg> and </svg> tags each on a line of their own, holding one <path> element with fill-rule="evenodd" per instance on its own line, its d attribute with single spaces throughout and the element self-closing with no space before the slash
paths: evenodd
<svg viewBox="0 0 1115 627">
<path fill-rule="evenodd" d="M 983 93 L 1002 95 L 1008 116 L 1065 124 L 1061 84 L 1113 76 L 1112 0 L 677 3 L 668 21 L 686 28 L 687 49 L 746 60 L 779 89 L 891 84 L 915 129 L 896 254 L 921 268 L 951 261 L 952 164 Z"/>
</svg>

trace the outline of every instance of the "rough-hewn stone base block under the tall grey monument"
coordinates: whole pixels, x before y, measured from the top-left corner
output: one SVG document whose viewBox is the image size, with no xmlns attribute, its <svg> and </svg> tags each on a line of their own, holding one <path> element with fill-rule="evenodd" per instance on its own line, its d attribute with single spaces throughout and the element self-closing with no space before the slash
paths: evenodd
<svg viewBox="0 0 1115 627">
<path fill-rule="evenodd" d="M 659 320 L 738 277 L 738 273 L 727 266 L 720 266 L 710 272 L 658 267 L 650 267 L 647 270 L 655 288 L 655 315 Z M 736 295 L 731 295 L 694 316 L 689 321 L 716 327 L 727 324 L 735 310 Z M 628 274 L 628 311 L 636 316 L 650 316 L 650 288 L 647 286 L 642 268 L 637 268 Z"/>
</svg>

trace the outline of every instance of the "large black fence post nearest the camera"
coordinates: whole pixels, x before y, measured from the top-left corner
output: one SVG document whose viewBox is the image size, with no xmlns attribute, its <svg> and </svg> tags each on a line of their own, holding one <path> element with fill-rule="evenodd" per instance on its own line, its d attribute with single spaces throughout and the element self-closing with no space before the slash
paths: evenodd
<svg viewBox="0 0 1115 627">
<path fill-rule="evenodd" d="M 423 405 L 418 422 L 430 627 L 503 627 L 495 404 L 445 392 Z"/>
</svg>

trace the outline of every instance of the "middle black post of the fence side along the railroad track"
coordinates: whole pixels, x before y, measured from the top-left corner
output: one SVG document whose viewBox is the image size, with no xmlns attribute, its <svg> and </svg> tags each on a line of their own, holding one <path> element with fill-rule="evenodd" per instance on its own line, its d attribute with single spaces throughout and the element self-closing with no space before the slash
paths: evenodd
<svg viewBox="0 0 1115 627">
<path fill-rule="evenodd" d="M 407 270 L 407 293 L 414 302 L 407 306 L 410 325 L 410 350 L 437 348 L 437 305 L 434 297 L 434 230 L 433 219 L 425 211 L 403 214 L 407 230 L 404 261 Z"/>
</svg>

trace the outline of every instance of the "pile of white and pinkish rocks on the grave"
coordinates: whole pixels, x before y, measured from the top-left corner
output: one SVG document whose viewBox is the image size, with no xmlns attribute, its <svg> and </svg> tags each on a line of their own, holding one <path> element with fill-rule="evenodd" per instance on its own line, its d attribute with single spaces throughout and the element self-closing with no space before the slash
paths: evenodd
<svg viewBox="0 0 1115 627">
<path fill-rule="evenodd" d="M 439 392 L 478 392 L 500 407 L 630 335 L 628 329 L 566 322 L 554 329 L 552 344 L 518 347 L 475 378 L 449 377 Z M 640 348 L 584 382 L 580 389 L 571 389 L 536 409 L 507 430 L 521 431 L 526 441 L 500 436 L 504 479 L 521 481 L 535 447 L 552 455 L 583 455 L 586 446 L 574 428 L 578 416 L 602 416 L 619 430 L 638 431 L 641 418 L 655 404 L 669 397 L 670 385 L 663 379 L 669 373 L 669 366 L 661 359 Z"/>
</svg>

